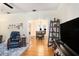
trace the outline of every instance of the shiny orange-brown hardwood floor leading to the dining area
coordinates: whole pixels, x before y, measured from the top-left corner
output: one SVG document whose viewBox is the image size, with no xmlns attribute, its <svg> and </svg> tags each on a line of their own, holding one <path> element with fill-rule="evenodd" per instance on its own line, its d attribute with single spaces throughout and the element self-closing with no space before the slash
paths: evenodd
<svg viewBox="0 0 79 59">
<path fill-rule="evenodd" d="M 48 47 L 47 39 L 35 39 L 30 40 L 30 47 L 25 50 L 21 56 L 53 56 L 54 50 Z"/>
</svg>

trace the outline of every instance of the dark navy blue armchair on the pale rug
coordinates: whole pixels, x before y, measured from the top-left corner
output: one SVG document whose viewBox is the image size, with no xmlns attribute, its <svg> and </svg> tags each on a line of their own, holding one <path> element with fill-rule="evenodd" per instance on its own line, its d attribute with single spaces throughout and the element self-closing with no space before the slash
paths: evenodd
<svg viewBox="0 0 79 59">
<path fill-rule="evenodd" d="M 21 47 L 20 32 L 12 31 L 7 42 L 7 49 Z"/>
</svg>

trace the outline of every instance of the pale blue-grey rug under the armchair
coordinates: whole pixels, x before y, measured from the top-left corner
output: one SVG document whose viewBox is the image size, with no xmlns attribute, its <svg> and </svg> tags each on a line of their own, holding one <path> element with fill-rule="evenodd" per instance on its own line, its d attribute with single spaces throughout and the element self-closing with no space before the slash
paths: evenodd
<svg viewBox="0 0 79 59">
<path fill-rule="evenodd" d="M 26 47 L 21 48 L 13 48 L 13 49 L 7 49 L 7 44 L 1 43 L 0 44 L 0 56 L 20 56 L 26 49 L 28 49 L 29 44 L 27 44 Z"/>
</svg>

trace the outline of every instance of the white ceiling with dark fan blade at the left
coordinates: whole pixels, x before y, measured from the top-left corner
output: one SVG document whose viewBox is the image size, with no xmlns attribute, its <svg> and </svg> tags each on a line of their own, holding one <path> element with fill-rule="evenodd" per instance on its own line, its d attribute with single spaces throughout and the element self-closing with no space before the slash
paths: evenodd
<svg viewBox="0 0 79 59">
<path fill-rule="evenodd" d="M 7 7 L 4 4 L 0 4 L 0 13 L 21 13 L 36 11 L 56 11 L 59 8 L 60 3 L 8 3 L 13 9 Z"/>
</svg>

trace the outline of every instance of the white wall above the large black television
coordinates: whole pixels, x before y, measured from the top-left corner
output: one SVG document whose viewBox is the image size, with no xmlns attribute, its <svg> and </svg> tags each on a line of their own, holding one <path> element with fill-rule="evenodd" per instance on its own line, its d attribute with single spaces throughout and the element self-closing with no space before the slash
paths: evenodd
<svg viewBox="0 0 79 59">
<path fill-rule="evenodd" d="M 61 19 L 61 23 L 64 23 L 66 21 L 79 17 L 79 4 L 64 3 L 60 6 L 59 10 L 56 12 L 56 15 L 59 19 Z"/>
</svg>

